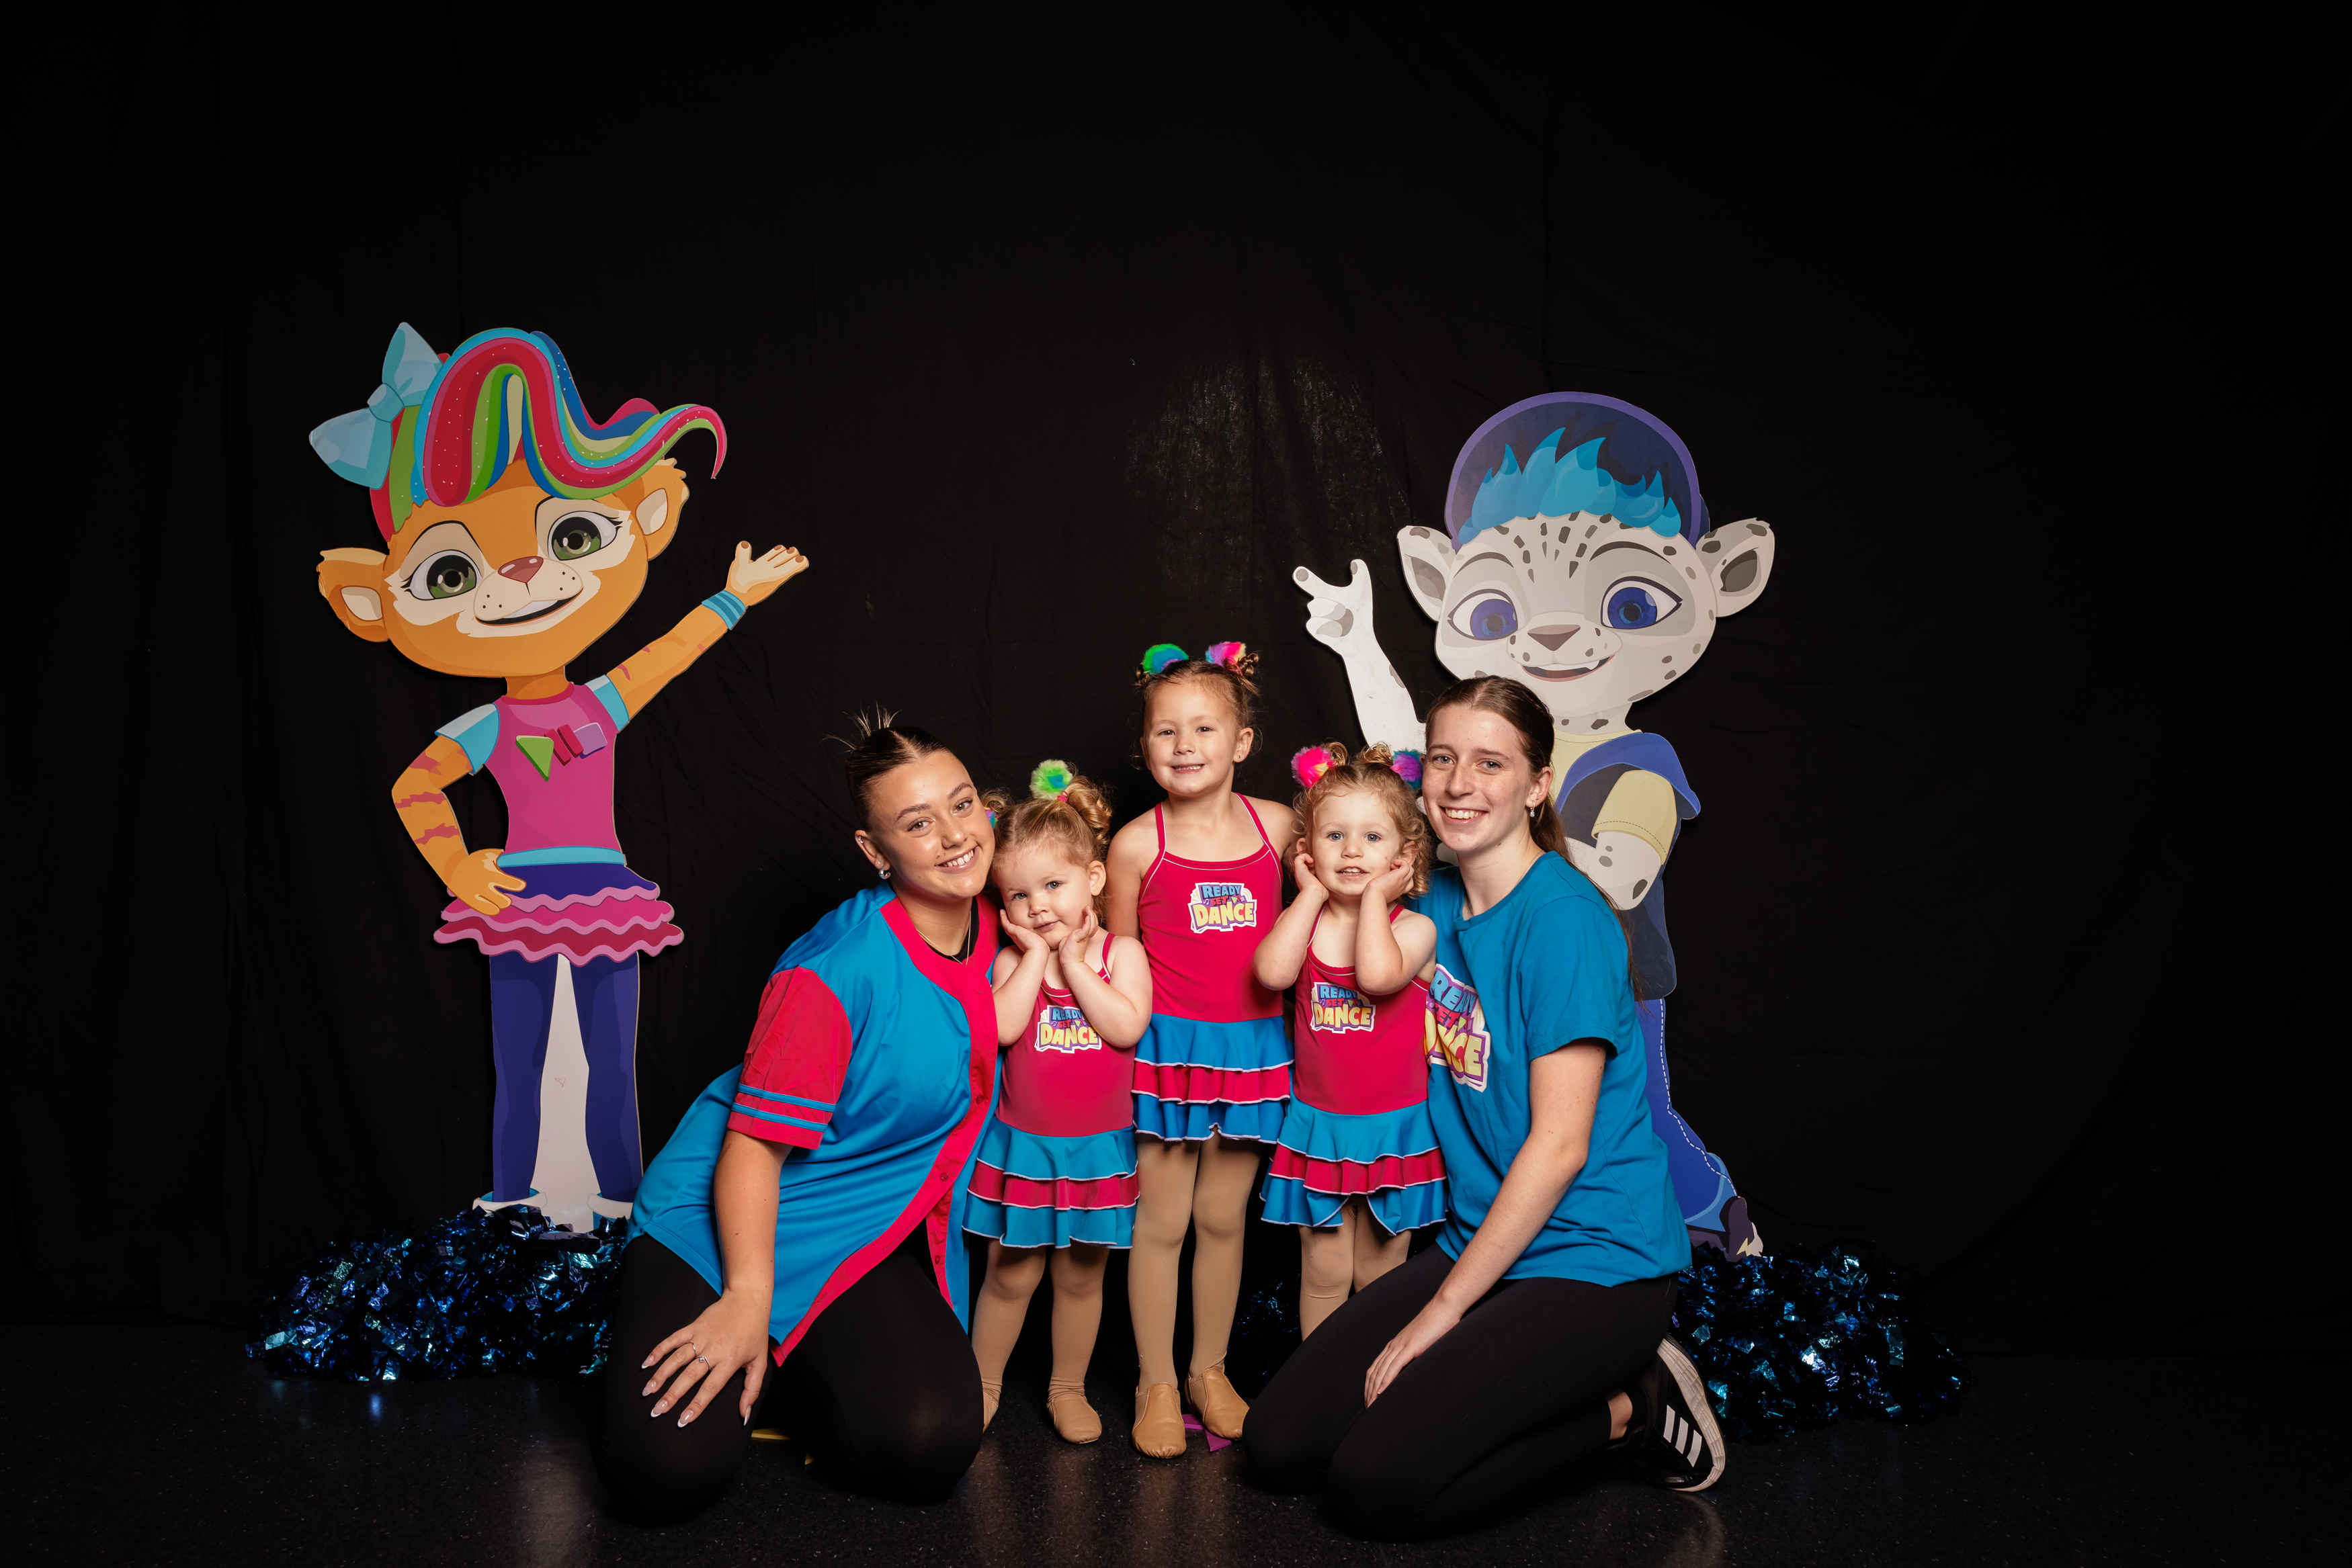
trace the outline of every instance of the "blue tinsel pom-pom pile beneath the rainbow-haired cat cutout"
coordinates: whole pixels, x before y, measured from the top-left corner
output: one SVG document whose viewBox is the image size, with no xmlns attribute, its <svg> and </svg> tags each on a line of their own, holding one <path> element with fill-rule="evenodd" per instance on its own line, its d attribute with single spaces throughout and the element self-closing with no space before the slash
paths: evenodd
<svg viewBox="0 0 2352 1568">
<path fill-rule="evenodd" d="M 350 1382 L 590 1378 L 612 1345 L 626 1246 L 626 1225 L 574 1234 L 527 1206 L 468 1208 L 421 1237 L 336 1241 L 261 1309 L 245 1354 Z"/>
</svg>

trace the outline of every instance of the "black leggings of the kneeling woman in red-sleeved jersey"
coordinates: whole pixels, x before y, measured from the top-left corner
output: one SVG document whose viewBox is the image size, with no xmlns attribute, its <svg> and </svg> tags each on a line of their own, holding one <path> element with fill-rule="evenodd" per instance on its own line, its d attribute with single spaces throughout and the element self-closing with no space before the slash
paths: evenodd
<svg viewBox="0 0 2352 1568">
<path fill-rule="evenodd" d="M 595 1462 L 614 1507 L 633 1519 L 680 1519 L 710 1502 L 750 1450 L 736 1415 L 743 1373 L 691 1427 L 647 1418 L 637 1363 L 717 1300 L 694 1267 L 652 1237 L 621 1253 L 612 1314 L 604 1429 Z M 760 1394 L 760 1425 L 816 1448 L 863 1493 L 931 1502 L 955 1490 L 981 1446 L 981 1368 L 955 1309 L 938 1293 L 924 1232 L 828 1305 Z"/>
</svg>

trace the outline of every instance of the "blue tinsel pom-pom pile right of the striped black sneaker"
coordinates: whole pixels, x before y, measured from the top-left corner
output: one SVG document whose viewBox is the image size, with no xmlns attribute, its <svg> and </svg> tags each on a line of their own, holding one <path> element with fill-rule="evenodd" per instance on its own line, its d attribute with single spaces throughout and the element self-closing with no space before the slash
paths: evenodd
<svg viewBox="0 0 2352 1568">
<path fill-rule="evenodd" d="M 1729 1439 L 1764 1443 L 1849 1415 L 1936 1420 L 1969 1389 L 1969 1363 L 1919 1326 L 1907 1281 L 1875 1248 L 1698 1248 L 1675 1284 L 1675 1335 Z"/>
</svg>

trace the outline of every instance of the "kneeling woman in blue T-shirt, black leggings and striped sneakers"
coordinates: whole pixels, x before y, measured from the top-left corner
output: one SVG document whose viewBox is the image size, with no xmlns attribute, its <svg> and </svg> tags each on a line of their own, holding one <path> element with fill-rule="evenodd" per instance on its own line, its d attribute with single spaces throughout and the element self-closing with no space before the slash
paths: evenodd
<svg viewBox="0 0 2352 1568">
<path fill-rule="evenodd" d="M 1329 1490 L 1341 1523 L 1388 1540 L 1475 1523 L 1606 1448 L 1682 1490 L 1724 1472 L 1668 1335 L 1691 1244 L 1623 926 L 1559 853 L 1550 715 L 1477 677 L 1428 736 L 1423 806 L 1461 860 L 1418 900 L 1449 1218 L 1298 1347 L 1242 1436 L 1268 1486 Z"/>
</svg>

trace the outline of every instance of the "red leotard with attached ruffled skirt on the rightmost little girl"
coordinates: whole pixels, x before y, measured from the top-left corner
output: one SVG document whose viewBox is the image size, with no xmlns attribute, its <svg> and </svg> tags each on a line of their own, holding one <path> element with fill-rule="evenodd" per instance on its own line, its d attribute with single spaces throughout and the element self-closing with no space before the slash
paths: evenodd
<svg viewBox="0 0 2352 1568">
<path fill-rule="evenodd" d="M 1298 1084 L 1265 1171 L 1265 1218 L 1329 1227 L 1362 1197 L 1390 1234 L 1444 1220 L 1446 1161 L 1430 1121 L 1430 987 L 1414 978 L 1390 997 L 1367 997 L 1352 966 L 1315 957 L 1310 929 L 1296 999 Z"/>
</svg>

